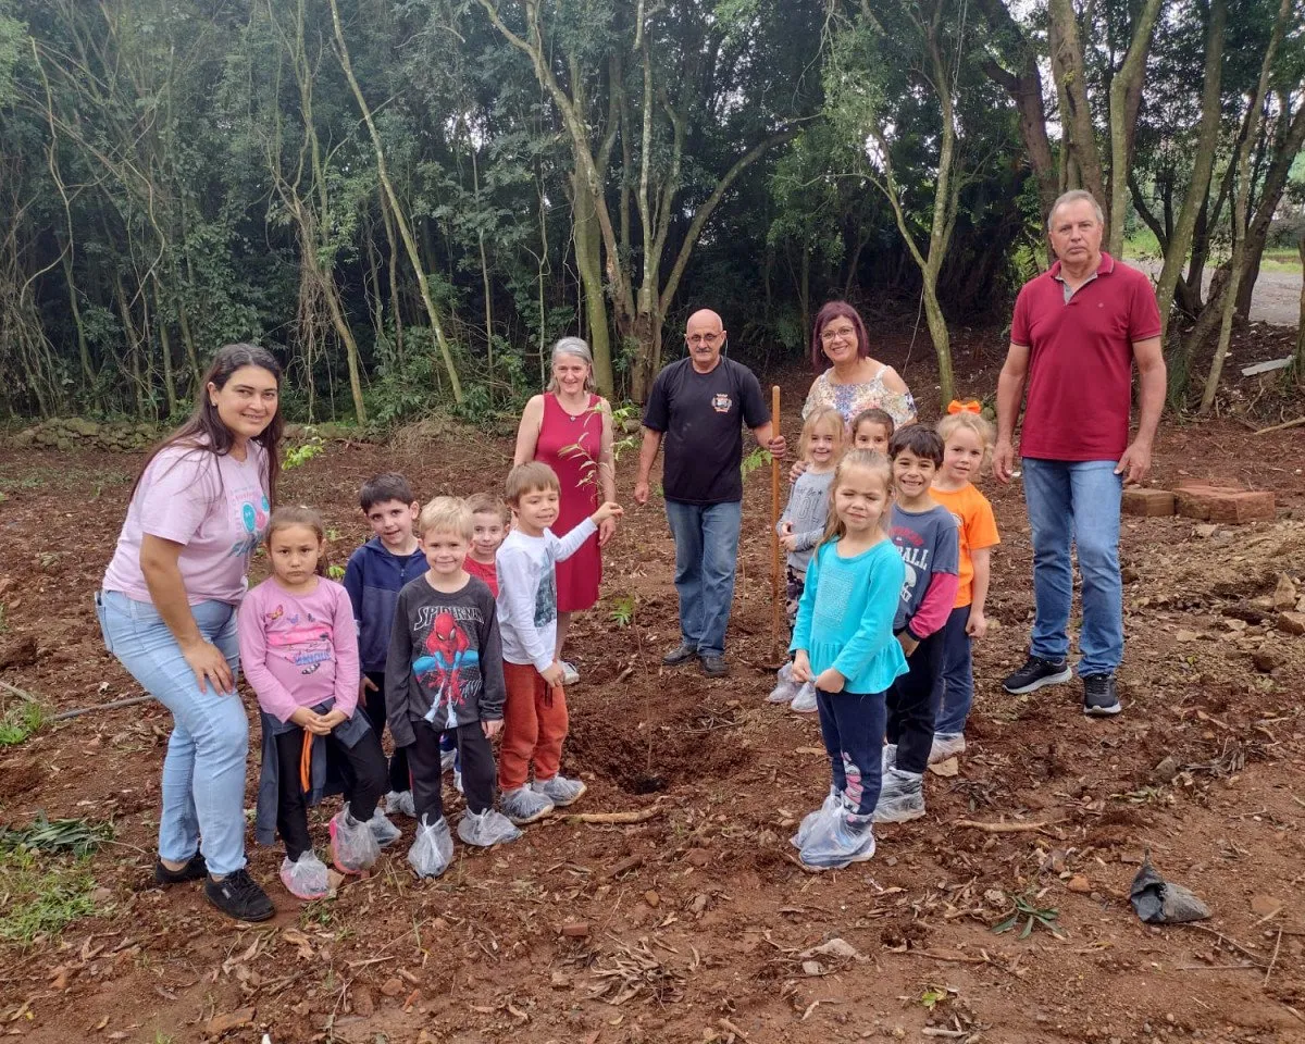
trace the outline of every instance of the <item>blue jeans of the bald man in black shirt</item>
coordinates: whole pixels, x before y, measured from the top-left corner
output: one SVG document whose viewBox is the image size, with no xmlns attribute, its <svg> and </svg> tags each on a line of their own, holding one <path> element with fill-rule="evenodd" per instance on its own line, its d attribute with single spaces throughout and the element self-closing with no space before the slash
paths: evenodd
<svg viewBox="0 0 1305 1044">
<path fill-rule="evenodd" d="M 685 504 L 668 500 L 666 521 L 675 536 L 680 632 L 699 652 L 723 655 L 733 604 L 743 501 Z"/>
</svg>

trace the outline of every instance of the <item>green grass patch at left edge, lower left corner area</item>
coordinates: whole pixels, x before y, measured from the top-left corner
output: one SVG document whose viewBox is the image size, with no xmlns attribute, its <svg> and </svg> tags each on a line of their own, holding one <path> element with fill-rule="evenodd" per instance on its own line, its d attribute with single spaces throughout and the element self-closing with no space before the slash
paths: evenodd
<svg viewBox="0 0 1305 1044">
<path fill-rule="evenodd" d="M 40 859 L 31 848 L 0 853 L 0 941 L 30 946 L 95 912 L 90 859 Z"/>
</svg>

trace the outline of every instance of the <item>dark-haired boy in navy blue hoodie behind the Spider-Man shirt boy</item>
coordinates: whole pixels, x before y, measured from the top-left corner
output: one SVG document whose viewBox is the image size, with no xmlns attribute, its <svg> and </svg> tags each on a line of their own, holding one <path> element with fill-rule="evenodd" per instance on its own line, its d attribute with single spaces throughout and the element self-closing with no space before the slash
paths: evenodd
<svg viewBox="0 0 1305 1044">
<path fill-rule="evenodd" d="M 403 586 L 420 577 L 427 564 L 412 532 L 420 505 L 406 478 L 395 472 L 377 475 L 363 483 L 358 499 L 376 536 L 348 556 L 345 590 L 358 621 L 358 651 L 363 668 L 358 706 L 380 737 L 386 720 L 385 658 L 390 651 L 394 607 Z M 385 809 L 416 816 L 407 752 L 402 746 L 394 748 L 390 758 L 390 792 L 385 796 Z"/>
</svg>

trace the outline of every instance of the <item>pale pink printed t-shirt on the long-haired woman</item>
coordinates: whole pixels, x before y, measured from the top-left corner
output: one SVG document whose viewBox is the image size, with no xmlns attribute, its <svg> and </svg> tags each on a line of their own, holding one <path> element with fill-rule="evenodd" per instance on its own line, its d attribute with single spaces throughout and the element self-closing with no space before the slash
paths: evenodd
<svg viewBox="0 0 1305 1044">
<path fill-rule="evenodd" d="M 104 590 L 153 602 L 141 573 L 145 535 L 181 544 L 177 566 L 192 606 L 239 606 L 248 586 L 249 556 L 268 529 L 268 453 L 249 442 L 244 461 L 196 446 L 168 446 L 150 461 L 117 548 L 104 573 Z"/>
</svg>

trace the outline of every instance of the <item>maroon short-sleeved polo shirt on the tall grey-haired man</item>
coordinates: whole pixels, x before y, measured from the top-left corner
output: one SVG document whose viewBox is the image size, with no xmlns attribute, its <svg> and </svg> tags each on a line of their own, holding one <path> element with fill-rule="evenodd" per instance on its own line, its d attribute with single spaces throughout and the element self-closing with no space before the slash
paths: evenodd
<svg viewBox="0 0 1305 1044">
<path fill-rule="evenodd" d="M 1117 461 L 1129 444 L 1133 345 L 1160 335 L 1151 279 L 1104 251 L 1096 275 L 1065 299 L 1060 261 L 1015 299 L 1010 339 L 1028 348 L 1019 454 Z"/>
</svg>

